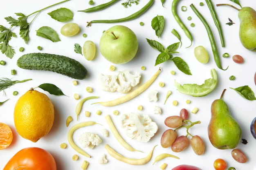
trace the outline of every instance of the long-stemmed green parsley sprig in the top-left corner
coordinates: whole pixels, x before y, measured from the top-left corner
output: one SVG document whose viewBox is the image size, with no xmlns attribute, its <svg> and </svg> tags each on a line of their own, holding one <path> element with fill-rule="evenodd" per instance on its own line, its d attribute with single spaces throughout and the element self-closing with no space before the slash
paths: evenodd
<svg viewBox="0 0 256 170">
<path fill-rule="evenodd" d="M 3 54 L 5 54 L 7 57 L 12 58 L 15 54 L 15 50 L 11 45 L 9 45 L 9 41 L 11 38 L 17 38 L 16 33 L 12 32 L 11 29 L 15 26 L 20 27 L 20 37 L 25 41 L 27 44 L 29 42 L 29 29 L 32 24 L 32 22 L 35 20 L 36 16 L 43 10 L 53 7 L 57 4 L 61 4 L 63 2 L 66 2 L 69 0 L 64 0 L 61 2 L 58 2 L 56 4 L 50 5 L 48 7 L 45 7 L 43 9 L 40 9 L 38 11 L 35 11 L 29 15 L 24 15 L 23 13 L 15 13 L 18 16 L 18 19 L 15 19 L 11 16 L 5 17 L 4 19 L 9 22 L 11 25 L 9 28 L 0 25 L 0 50 Z M 27 22 L 27 18 L 29 18 L 31 15 L 34 15 L 34 18 L 31 20 L 31 22 Z"/>
</svg>

